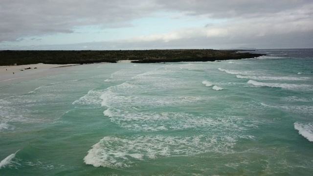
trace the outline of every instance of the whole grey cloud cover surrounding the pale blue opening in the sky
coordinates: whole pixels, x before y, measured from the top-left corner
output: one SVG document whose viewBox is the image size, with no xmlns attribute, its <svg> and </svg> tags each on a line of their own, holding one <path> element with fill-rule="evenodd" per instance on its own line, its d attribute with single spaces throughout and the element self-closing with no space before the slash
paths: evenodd
<svg viewBox="0 0 313 176">
<path fill-rule="evenodd" d="M 171 40 L 166 40 L 167 34 L 156 34 L 144 37 L 155 37 L 155 40 L 32 48 L 225 48 L 227 45 L 266 47 L 266 44 L 272 44 L 267 47 L 279 47 L 279 44 L 281 47 L 313 47 L 312 38 L 308 37 L 313 36 L 312 9 L 312 0 L 1 0 L 0 42 L 53 33 L 72 33 L 75 28 L 86 25 L 131 27 L 131 20 L 153 16 L 156 12 L 175 12 L 182 14 L 176 18 L 203 16 L 208 19 L 226 19 L 223 24 L 208 23 L 203 26 L 203 30 L 213 32 L 223 29 L 223 35 L 217 36 L 219 33 L 215 33 L 217 35 L 201 36 L 181 29 L 180 35 Z M 169 31 L 169 34 L 175 34 L 175 31 Z M 255 43 L 258 45 L 253 45 Z"/>
</svg>

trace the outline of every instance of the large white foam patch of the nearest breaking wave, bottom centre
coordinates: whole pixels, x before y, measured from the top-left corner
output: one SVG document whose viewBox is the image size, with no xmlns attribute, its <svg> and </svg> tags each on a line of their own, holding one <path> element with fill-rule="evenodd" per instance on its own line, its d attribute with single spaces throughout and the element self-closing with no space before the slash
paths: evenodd
<svg viewBox="0 0 313 176">
<path fill-rule="evenodd" d="M 106 136 L 84 157 L 94 167 L 126 168 L 135 162 L 170 156 L 191 156 L 206 152 L 229 153 L 237 139 L 233 136 L 139 135 L 127 138 Z"/>
</svg>

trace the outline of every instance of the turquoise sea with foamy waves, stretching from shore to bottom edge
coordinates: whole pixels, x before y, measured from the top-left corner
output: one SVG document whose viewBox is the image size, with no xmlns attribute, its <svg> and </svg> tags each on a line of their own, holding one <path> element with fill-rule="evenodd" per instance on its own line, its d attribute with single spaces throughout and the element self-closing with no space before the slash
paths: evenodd
<svg viewBox="0 0 313 176">
<path fill-rule="evenodd" d="M 313 173 L 313 50 L 0 83 L 0 175 Z"/>
</svg>

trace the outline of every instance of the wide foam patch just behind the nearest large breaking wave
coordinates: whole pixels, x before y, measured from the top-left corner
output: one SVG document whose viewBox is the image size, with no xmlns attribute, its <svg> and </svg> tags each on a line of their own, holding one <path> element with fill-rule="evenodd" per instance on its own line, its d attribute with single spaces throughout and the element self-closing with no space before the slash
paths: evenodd
<svg viewBox="0 0 313 176">
<path fill-rule="evenodd" d="M 183 129 L 210 129 L 211 132 L 223 126 L 224 130 L 243 132 L 247 128 L 254 128 L 259 122 L 247 124 L 240 117 L 218 117 L 184 113 L 184 112 L 143 112 L 135 109 L 108 108 L 104 111 L 112 123 L 129 130 L 156 132 Z"/>
</svg>

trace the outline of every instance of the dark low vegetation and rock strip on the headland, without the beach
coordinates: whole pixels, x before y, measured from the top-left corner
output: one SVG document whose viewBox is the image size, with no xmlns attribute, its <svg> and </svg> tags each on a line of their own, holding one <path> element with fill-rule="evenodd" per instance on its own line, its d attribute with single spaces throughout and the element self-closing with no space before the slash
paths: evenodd
<svg viewBox="0 0 313 176">
<path fill-rule="evenodd" d="M 240 50 L 164 49 L 164 50 L 82 50 L 82 51 L 0 51 L 0 66 L 27 64 L 90 64 L 119 60 L 136 60 L 133 63 L 206 62 L 245 59 L 262 54 L 240 53 Z"/>
</svg>

